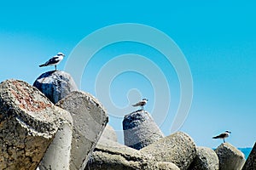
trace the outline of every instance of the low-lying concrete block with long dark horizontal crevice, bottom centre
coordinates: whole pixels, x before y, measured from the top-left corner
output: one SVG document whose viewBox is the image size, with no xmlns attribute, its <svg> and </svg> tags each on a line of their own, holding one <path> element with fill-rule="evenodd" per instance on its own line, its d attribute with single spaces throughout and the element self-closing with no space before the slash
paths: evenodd
<svg viewBox="0 0 256 170">
<path fill-rule="evenodd" d="M 179 170 L 172 162 L 154 161 L 139 150 L 105 139 L 96 148 L 85 167 L 86 170 Z"/>
</svg>

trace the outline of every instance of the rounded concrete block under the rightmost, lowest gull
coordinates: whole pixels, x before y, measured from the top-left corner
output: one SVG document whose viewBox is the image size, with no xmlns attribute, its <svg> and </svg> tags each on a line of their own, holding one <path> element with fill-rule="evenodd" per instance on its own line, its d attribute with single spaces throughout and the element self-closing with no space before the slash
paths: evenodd
<svg viewBox="0 0 256 170">
<path fill-rule="evenodd" d="M 243 153 L 229 143 L 223 143 L 215 150 L 219 160 L 219 170 L 240 170 L 245 162 Z"/>
</svg>

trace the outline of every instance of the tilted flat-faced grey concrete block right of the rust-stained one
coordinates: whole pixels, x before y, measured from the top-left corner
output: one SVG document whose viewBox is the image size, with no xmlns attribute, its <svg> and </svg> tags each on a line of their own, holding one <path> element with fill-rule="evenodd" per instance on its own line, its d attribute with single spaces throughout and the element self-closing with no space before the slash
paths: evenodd
<svg viewBox="0 0 256 170">
<path fill-rule="evenodd" d="M 73 117 L 70 170 L 84 169 L 108 123 L 107 111 L 92 95 L 74 91 L 56 105 Z"/>
</svg>

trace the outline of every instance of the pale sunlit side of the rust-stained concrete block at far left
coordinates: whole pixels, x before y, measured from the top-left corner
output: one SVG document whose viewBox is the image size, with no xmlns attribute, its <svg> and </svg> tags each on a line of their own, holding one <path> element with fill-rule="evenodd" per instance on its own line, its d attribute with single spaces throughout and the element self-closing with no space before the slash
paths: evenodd
<svg viewBox="0 0 256 170">
<path fill-rule="evenodd" d="M 60 110 L 63 121 L 55 134 L 55 138 L 49 144 L 49 147 L 44 154 L 43 160 L 40 162 L 40 170 L 64 170 L 69 169 L 71 142 L 73 134 L 73 119 L 69 112 L 55 107 Z"/>
</svg>

